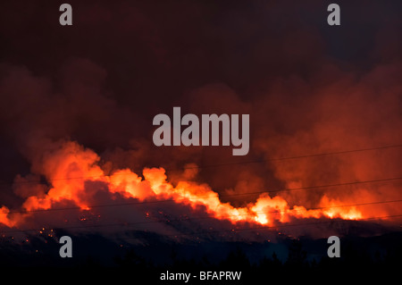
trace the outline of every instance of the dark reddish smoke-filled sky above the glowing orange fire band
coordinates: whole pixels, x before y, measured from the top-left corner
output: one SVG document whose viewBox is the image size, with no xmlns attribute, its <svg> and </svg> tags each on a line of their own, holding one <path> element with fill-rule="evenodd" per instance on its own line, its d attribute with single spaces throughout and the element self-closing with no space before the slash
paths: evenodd
<svg viewBox="0 0 402 285">
<path fill-rule="evenodd" d="M 402 141 L 398 0 L 337 1 L 339 27 L 326 21 L 331 2 L 319 0 L 69 1 L 71 27 L 59 24 L 62 3 L 0 4 L 4 182 L 35 172 L 46 142 L 59 139 L 94 149 L 109 170 L 239 161 L 231 147 L 155 147 L 152 119 L 172 106 L 249 113 L 245 160 Z M 383 155 L 373 155 L 380 164 L 267 163 L 198 179 L 252 192 L 398 174 L 401 153 Z M 0 201 L 19 200 L 5 185 Z"/>
</svg>

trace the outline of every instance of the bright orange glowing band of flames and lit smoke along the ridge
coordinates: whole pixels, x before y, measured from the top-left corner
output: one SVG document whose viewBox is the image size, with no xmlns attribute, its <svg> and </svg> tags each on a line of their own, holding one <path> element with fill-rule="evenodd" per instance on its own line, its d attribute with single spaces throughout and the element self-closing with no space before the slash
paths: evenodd
<svg viewBox="0 0 402 285">
<path fill-rule="evenodd" d="M 235 207 L 230 203 L 222 203 L 218 193 L 206 184 L 180 180 L 173 186 L 167 180 L 163 168 L 144 169 L 144 179 L 129 169 L 106 175 L 99 161 L 100 157 L 94 151 L 71 141 L 64 142 L 53 152 L 46 153 L 41 163 L 42 170 L 38 174 L 44 175 L 51 186 L 47 191 L 41 192 L 36 189 L 37 183 L 16 183 L 15 187 L 29 188 L 36 193 L 26 198 L 19 212 L 13 213 L 6 206 L 1 207 L 0 222 L 7 227 L 21 227 L 29 215 L 68 203 L 80 207 L 81 211 L 90 211 L 91 206 L 100 204 L 98 197 L 105 192 L 112 200 L 117 197 L 134 198 L 138 203 L 172 200 L 177 205 L 188 205 L 193 209 L 201 206 L 209 216 L 233 224 L 249 222 L 273 226 L 278 222 L 290 222 L 292 219 L 359 220 L 375 214 L 388 214 L 375 207 L 364 211 L 363 207 L 339 206 L 351 204 L 350 198 L 331 198 L 327 195 L 322 196 L 318 207 L 313 209 L 307 209 L 304 205 L 290 206 L 284 197 L 270 197 L 268 193 L 261 193 L 254 203 Z M 360 193 L 364 193 L 364 190 Z M 358 194 L 354 193 L 353 197 L 357 197 L 356 195 Z"/>
</svg>

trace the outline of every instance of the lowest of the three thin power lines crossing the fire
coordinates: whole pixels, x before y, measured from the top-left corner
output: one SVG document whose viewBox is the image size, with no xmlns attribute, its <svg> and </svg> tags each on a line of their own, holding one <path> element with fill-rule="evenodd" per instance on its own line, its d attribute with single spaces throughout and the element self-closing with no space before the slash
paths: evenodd
<svg viewBox="0 0 402 285">
<path fill-rule="evenodd" d="M 350 207 L 350 206 L 362 206 L 362 205 L 379 205 L 379 204 L 389 204 L 389 203 L 398 203 L 402 202 L 402 199 L 400 200 L 389 200 L 389 201 L 374 201 L 374 202 L 367 202 L 367 203 L 358 203 L 358 204 L 348 204 L 348 205 L 331 205 L 331 206 L 323 206 L 323 207 L 315 207 L 315 208 L 309 208 L 306 209 L 307 211 L 312 211 L 312 210 L 323 210 L 323 209 L 331 209 L 331 208 L 338 208 L 338 207 Z M 304 209 L 295 209 L 295 210 L 289 210 L 289 212 L 300 212 L 304 211 Z M 279 211 L 279 210 L 273 210 L 273 211 L 260 211 L 260 212 L 255 212 L 254 214 L 286 214 L 288 213 L 287 211 Z M 239 217 L 239 216 L 244 216 L 247 214 L 230 214 L 227 215 L 226 217 Z M 76 225 L 76 226 L 67 226 L 67 227 L 62 227 L 62 228 L 55 228 L 53 227 L 53 230 L 61 229 L 61 230 L 74 230 L 74 229 L 87 229 L 87 228 L 104 228 L 104 227 L 111 227 L 111 226 L 134 226 L 134 225 L 139 225 L 139 224 L 148 224 L 148 223 L 158 223 L 158 222 L 180 222 L 180 221 L 195 221 L 195 220 L 205 220 L 205 219 L 216 219 L 215 216 L 196 216 L 196 217 L 183 217 L 183 218 L 176 218 L 176 219 L 170 219 L 170 220 L 153 220 L 153 221 L 143 221 L 143 222 L 116 222 L 116 223 L 106 223 L 106 224 L 87 224 L 87 225 Z M 228 219 L 225 218 L 225 221 Z M 362 221 L 364 219 L 359 219 L 358 221 Z M 347 220 L 348 221 L 348 220 Z M 245 221 L 243 221 L 245 222 Z M 26 232 L 26 231 L 38 231 L 38 229 L 26 229 L 26 230 L 10 230 L 10 231 L 1 231 L 2 233 L 11 233 L 11 232 Z"/>
</svg>

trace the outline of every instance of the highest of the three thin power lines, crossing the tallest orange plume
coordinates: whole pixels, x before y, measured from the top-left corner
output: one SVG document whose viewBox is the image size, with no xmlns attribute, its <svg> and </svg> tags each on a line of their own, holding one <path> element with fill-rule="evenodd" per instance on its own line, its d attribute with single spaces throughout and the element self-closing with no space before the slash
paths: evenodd
<svg viewBox="0 0 402 285">
<path fill-rule="evenodd" d="M 181 167 L 181 168 L 164 168 L 165 172 L 175 172 L 175 171 L 183 171 L 183 170 L 191 170 L 191 169 L 204 169 L 204 168 L 211 168 L 211 167 L 221 167 L 221 166 L 230 166 L 230 165 L 241 165 L 241 164 L 251 164 L 251 163 L 267 163 L 267 162 L 275 162 L 275 161 L 286 161 L 286 160 L 294 160 L 294 159 L 301 159 L 301 158 L 308 158 L 308 157 L 318 157 L 318 156 L 325 156 L 325 155 L 343 155 L 343 154 L 351 154 L 357 152 L 365 152 L 365 151 L 373 151 L 373 150 L 381 150 L 381 149 L 388 149 L 388 148 L 397 148 L 402 147 L 401 145 L 391 145 L 391 146 L 383 146 L 383 147 L 369 147 L 369 148 L 359 148 L 359 149 L 352 149 L 352 150 L 343 150 L 337 152 L 327 152 L 327 153 L 320 153 L 320 154 L 311 154 L 311 155 L 296 155 L 296 156 L 285 156 L 285 157 L 277 157 L 277 158 L 269 158 L 269 159 L 260 159 L 254 161 L 245 161 L 245 162 L 233 162 L 233 163 L 216 163 L 216 164 L 205 164 L 199 166 L 188 166 L 188 167 Z M 143 169 L 137 171 L 131 171 L 134 173 L 142 172 Z M 127 173 L 115 173 L 113 175 L 129 175 Z M 110 177 L 111 175 L 94 175 L 94 176 L 78 176 L 78 177 L 61 177 L 61 178 L 54 178 L 54 179 L 46 179 L 46 181 L 57 181 L 57 180 L 86 180 L 86 179 L 96 179 L 102 177 Z M 40 180 L 25 180 L 25 181 L 14 181 L 14 182 L 3 182 L 0 185 L 15 185 L 15 184 L 29 184 L 29 183 L 41 183 Z"/>
</svg>

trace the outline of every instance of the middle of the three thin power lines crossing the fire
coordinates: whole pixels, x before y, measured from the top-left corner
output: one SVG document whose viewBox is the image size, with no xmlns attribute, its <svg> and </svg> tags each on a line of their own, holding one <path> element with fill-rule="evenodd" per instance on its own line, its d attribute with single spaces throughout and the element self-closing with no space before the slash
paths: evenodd
<svg viewBox="0 0 402 285">
<path fill-rule="evenodd" d="M 263 193 L 279 193 L 285 191 L 297 191 L 297 190 L 311 190 L 311 189 L 321 189 L 321 188 L 331 188 L 331 187 L 340 187 L 340 186 L 349 186 L 349 185 L 357 185 L 357 184 L 368 184 L 368 183 L 376 183 L 376 182 L 385 182 L 392 180 L 402 180 L 402 177 L 394 177 L 394 178 L 386 178 L 379 180 L 362 180 L 362 181 L 351 181 L 344 183 L 336 183 L 336 184 L 324 184 L 324 185 L 314 185 L 314 186 L 306 186 L 299 188 L 288 188 L 288 189 L 277 189 L 277 190 L 265 190 L 265 191 L 256 191 L 256 192 L 248 192 L 248 193 L 236 193 L 236 194 L 226 194 L 220 197 L 238 197 L 238 196 L 247 196 L 247 195 L 255 195 L 255 194 L 263 194 Z M 216 196 L 204 196 L 197 198 L 187 198 L 188 201 L 198 200 L 203 198 L 210 198 Z M 135 198 L 135 197 L 133 197 Z M 121 204 L 106 204 L 106 205 L 88 205 L 88 208 L 100 208 L 100 207 L 109 207 L 109 206 L 123 206 L 123 205 L 144 205 L 144 204 L 157 204 L 157 203 L 166 203 L 166 202 L 178 202 L 175 199 L 163 199 L 163 200 L 153 200 L 153 201 L 137 201 L 132 203 L 121 203 Z M 25 213 L 39 213 L 39 212 L 52 212 L 52 211 L 67 211 L 67 210 L 80 210 L 82 209 L 80 206 L 71 206 L 64 208 L 50 208 L 50 209 L 38 209 L 38 210 L 28 210 L 28 211 L 10 211 L 7 214 L 25 214 Z"/>
</svg>

